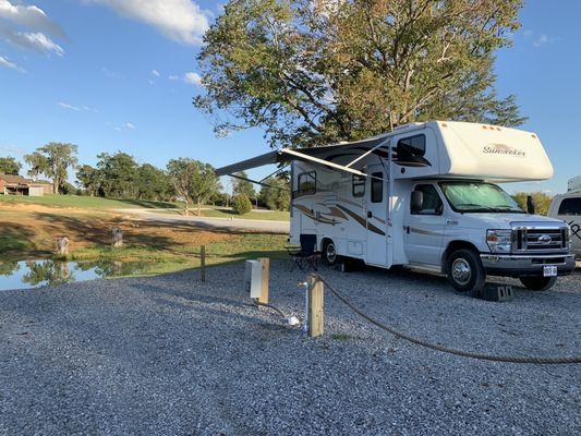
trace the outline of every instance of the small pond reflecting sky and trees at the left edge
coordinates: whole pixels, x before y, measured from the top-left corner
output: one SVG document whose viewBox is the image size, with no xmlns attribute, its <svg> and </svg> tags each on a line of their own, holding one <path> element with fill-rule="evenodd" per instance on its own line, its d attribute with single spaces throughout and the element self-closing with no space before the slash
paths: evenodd
<svg viewBox="0 0 581 436">
<path fill-rule="evenodd" d="M 145 262 L 0 262 L 0 291 L 73 283 L 105 277 L 140 274 Z"/>
</svg>

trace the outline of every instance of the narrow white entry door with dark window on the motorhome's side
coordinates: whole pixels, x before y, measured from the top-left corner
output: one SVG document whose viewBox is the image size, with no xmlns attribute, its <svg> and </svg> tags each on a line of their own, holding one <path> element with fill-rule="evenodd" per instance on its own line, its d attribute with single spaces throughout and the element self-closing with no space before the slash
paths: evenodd
<svg viewBox="0 0 581 436">
<path fill-rule="evenodd" d="M 383 165 L 367 167 L 365 190 L 367 253 L 370 265 L 387 266 L 387 199 L 389 198 L 387 174 Z M 380 179 L 380 180 L 378 180 Z"/>
</svg>

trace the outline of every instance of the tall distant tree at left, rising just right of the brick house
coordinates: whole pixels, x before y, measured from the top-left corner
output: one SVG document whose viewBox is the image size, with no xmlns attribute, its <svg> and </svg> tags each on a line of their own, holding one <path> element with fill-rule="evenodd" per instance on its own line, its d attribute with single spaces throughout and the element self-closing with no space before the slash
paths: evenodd
<svg viewBox="0 0 581 436">
<path fill-rule="evenodd" d="M 66 143 L 49 143 L 37 148 L 33 154 L 24 156 L 24 160 L 31 166 L 28 175 L 46 175 L 52 180 L 52 192 L 58 194 L 66 182 L 69 168 L 76 166 L 76 145 Z"/>
</svg>

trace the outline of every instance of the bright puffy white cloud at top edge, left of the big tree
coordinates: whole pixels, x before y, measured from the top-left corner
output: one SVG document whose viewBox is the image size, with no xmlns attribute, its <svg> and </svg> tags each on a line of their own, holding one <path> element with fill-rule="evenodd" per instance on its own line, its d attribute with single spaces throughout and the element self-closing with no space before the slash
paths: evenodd
<svg viewBox="0 0 581 436">
<path fill-rule="evenodd" d="M 179 43 L 198 45 L 208 28 L 208 13 L 192 0 L 88 0 L 157 27 Z"/>
</svg>

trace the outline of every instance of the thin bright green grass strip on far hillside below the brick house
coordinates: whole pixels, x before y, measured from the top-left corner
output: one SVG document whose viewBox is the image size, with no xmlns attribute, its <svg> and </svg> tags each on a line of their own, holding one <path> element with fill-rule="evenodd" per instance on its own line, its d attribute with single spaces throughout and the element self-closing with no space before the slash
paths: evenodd
<svg viewBox="0 0 581 436">
<path fill-rule="evenodd" d="M 0 204 L 34 204 L 49 207 L 77 207 L 87 209 L 156 208 L 180 207 L 175 203 L 148 202 L 141 199 L 116 199 L 78 195 L 44 195 L 41 197 L 0 195 Z"/>
</svg>

